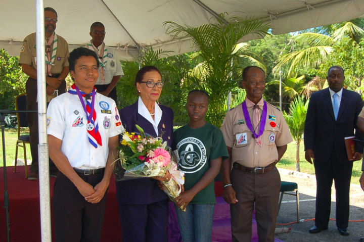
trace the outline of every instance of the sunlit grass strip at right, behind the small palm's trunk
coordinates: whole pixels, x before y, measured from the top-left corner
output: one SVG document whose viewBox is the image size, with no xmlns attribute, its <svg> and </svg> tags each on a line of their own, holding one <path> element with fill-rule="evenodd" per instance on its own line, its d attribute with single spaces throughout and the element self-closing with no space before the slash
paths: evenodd
<svg viewBox="0 0 364 242">
<path fill-rule="evenodd" d="M 288 148 L 283 158 L 277 164 L 278 168 L 287 170 L 296 170 L 296 142 L 288 144 Z M 314 174 L 314 167 L 304 159 L 304 146 L 303 141 L 300 143 L 300 170 L 301 172 Z M 359 184 L 359 178 L 361 176 L 361 160 L 355 161 L 353 165 L 353 171 L 351 176 L 351 183 Z"/>
</svg>

